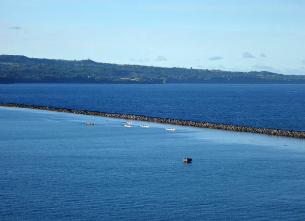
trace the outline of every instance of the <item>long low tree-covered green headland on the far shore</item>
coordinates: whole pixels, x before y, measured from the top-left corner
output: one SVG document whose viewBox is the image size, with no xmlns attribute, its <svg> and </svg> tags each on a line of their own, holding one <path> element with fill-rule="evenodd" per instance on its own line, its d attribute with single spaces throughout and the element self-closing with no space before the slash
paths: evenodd
<svg viewBox="0 0 305 221">
<path fill-rule="evenodd" d="M 304 75 L 116 65 L 86 60 L 0 55 L 0 83 L 304 84 Z"/>
</svg>

